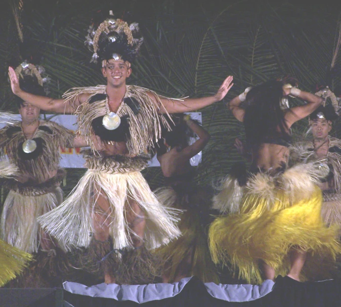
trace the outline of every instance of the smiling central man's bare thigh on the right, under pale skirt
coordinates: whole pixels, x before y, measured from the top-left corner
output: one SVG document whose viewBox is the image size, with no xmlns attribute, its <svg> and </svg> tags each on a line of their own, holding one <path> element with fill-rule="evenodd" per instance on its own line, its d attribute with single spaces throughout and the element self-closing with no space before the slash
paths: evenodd
<svg viewBox="0 0 341 307">
<path fill-rule="evenodd" d="M 146 227 L 145 215 L 139 204 L 132 198 L 128 198 L 125 217 L 131 230 L 134 247 L 142 246 Z"/>
</svg>

